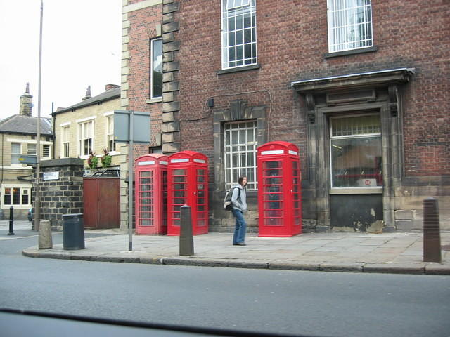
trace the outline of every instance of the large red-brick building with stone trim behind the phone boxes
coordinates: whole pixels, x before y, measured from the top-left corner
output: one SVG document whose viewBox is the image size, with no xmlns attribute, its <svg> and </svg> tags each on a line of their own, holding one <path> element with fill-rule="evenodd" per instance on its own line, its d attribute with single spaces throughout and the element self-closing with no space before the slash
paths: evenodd
<svg viewBox="0 0 450 337">
<path fill-rule="evenodd" d="M 122 107 L 152 112 L 165 154 L 209 157 L 211 231 L 233 226 L 240 175 L 257 230 L 255 150 L 273 140 L 300 148 L 304 230 L 420 229 L 425 197 L 450 229 L 447 2 L 130 0 Z"/>
</svg>

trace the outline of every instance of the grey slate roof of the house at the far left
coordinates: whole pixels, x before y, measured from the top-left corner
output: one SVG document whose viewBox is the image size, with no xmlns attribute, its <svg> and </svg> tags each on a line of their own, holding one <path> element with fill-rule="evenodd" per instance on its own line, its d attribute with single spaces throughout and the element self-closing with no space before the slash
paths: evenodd
<svg viewBox="0 0 450 337">
<path fill-rule="evenodd" d="M 37 117 L 14 114 L 0 121 L 0 133 L 37 134 Z M 51 118 L 41 118 L 41 135 L 53 136 Z"/>
</svg>

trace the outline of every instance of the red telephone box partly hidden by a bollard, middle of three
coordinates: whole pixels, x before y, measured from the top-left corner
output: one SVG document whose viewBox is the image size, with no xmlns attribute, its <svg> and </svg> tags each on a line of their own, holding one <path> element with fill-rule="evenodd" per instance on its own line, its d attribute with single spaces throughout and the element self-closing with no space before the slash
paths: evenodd
<svg viewBox="0 0 450 337">
<path fill-rule="evenodd" d="M 167 235 L 179 235 L 183 205 L 191 206 L 193 235 L 208 232 L 208 159 L 194 151 L 169 156 Z"/>
</svg>

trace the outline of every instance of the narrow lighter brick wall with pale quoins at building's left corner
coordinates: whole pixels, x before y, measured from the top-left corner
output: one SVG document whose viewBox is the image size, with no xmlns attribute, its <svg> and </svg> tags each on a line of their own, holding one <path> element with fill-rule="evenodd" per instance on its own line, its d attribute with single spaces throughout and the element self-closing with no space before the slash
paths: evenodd
<svg viewBox="0 0 450 337">
<path fill-rule="evenodd" d="M 124 0 L 122 7 L 122 83 L 120 107 L 150 112 L 150 143 L 134 145 L 134 159 L 160 146 L 162 100 L 150 100 L 150 40 L 161 37 L 162 0 Z M 120 163 L 120 227 L 128 226 L 128 148 Z"/>
</svg>

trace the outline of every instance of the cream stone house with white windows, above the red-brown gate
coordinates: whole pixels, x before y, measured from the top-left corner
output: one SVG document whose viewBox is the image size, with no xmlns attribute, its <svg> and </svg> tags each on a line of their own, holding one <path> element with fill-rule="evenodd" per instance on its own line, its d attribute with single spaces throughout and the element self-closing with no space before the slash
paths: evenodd
<svg viewBox="0 0 450 337">
<path fill-rule="evenodd" d="M 52 113 L 55 129 L 55 158 L 80 158 L 89 169 L 93 152 L 101 168 L 103 149 L 112 156 L 110 166 L 120 166 L 120 145 L 114 142 L 114 110 L 120 109 L 120 86 L 107 84 L 105 91 L 91 96 L 90 86 L 79 103 Z M 95 170 L 94 170 L 95 171 Z M 89 171 L 87 171 L 89 173 Z"/>
</svg>

